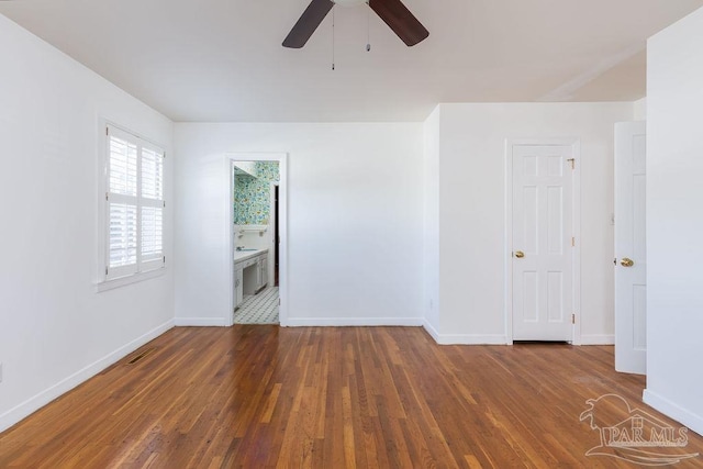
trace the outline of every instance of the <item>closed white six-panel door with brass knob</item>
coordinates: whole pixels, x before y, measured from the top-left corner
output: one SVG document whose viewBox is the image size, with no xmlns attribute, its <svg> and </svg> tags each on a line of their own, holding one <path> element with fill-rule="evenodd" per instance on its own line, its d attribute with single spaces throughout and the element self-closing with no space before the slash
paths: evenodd
<svg viewBox="0 0 703 469">
<path fill-rule="evenodd" d="M 512 146 L 513 340 L 573 339 L 572 145 Z"/>
</svg>

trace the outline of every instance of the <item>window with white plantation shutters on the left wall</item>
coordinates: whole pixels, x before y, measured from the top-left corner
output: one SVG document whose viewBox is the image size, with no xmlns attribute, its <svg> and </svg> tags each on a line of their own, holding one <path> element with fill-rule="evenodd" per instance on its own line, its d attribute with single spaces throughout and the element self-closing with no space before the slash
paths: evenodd
<svg viewBox="0 0 703 469">
<path fill-rule="evenodd" d="M 105 280 L 164 267 L 164 150 L 107 126 Z"/>
</svg>

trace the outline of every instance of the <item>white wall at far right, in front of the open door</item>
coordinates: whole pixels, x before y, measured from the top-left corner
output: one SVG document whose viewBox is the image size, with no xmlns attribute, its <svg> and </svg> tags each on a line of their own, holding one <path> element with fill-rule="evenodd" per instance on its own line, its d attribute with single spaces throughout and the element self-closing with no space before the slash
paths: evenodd
<svg viewBox="0 0 703 469">
<path fill-rule="evenodd" d="M 703 434 L 703 9 L 647 48 L 645 401 Z"/>
</svg>

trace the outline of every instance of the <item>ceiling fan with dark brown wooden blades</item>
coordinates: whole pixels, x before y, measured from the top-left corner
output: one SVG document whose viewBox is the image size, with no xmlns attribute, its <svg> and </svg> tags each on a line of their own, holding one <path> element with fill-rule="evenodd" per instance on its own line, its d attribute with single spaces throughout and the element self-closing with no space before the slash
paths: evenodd
<svg viewBox="0 0 703 469">
<path fill-rule="evenodd" d="M 322 20 L 335 4 L 353 5 L 367 3 L 381 20 L 408 46 L 414 46 L 429 35 L 401 0 L 312 0 L 283 41 L 283 47 L 300 48 L 305 45 Z"/>
</svg>

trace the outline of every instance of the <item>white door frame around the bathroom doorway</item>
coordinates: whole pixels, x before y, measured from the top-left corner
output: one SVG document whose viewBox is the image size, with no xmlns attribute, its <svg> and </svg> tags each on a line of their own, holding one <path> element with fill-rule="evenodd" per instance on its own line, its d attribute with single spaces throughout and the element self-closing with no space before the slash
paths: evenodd
<svg viewBox="0 0 703 469">
<path fill-rule="evenodd" d="M 227 171 L 227 187 L 230 197 L 226 200 L 225 220 L 226 238 L 230 239 L 227 263 L 230 272 L 230 309 L 224 319 L 225 326 L 234 324 L 234 178 L 233 165 L 235 161 L 278 161 L 278 231 L 280 244 L 278 245 L 278 294 L 280 305 L 278 317 L 281 326 L 288 325 L 288 154 L 287 153 L 228 153 L 225 161 L 230 170 Z"/>
</svg>

